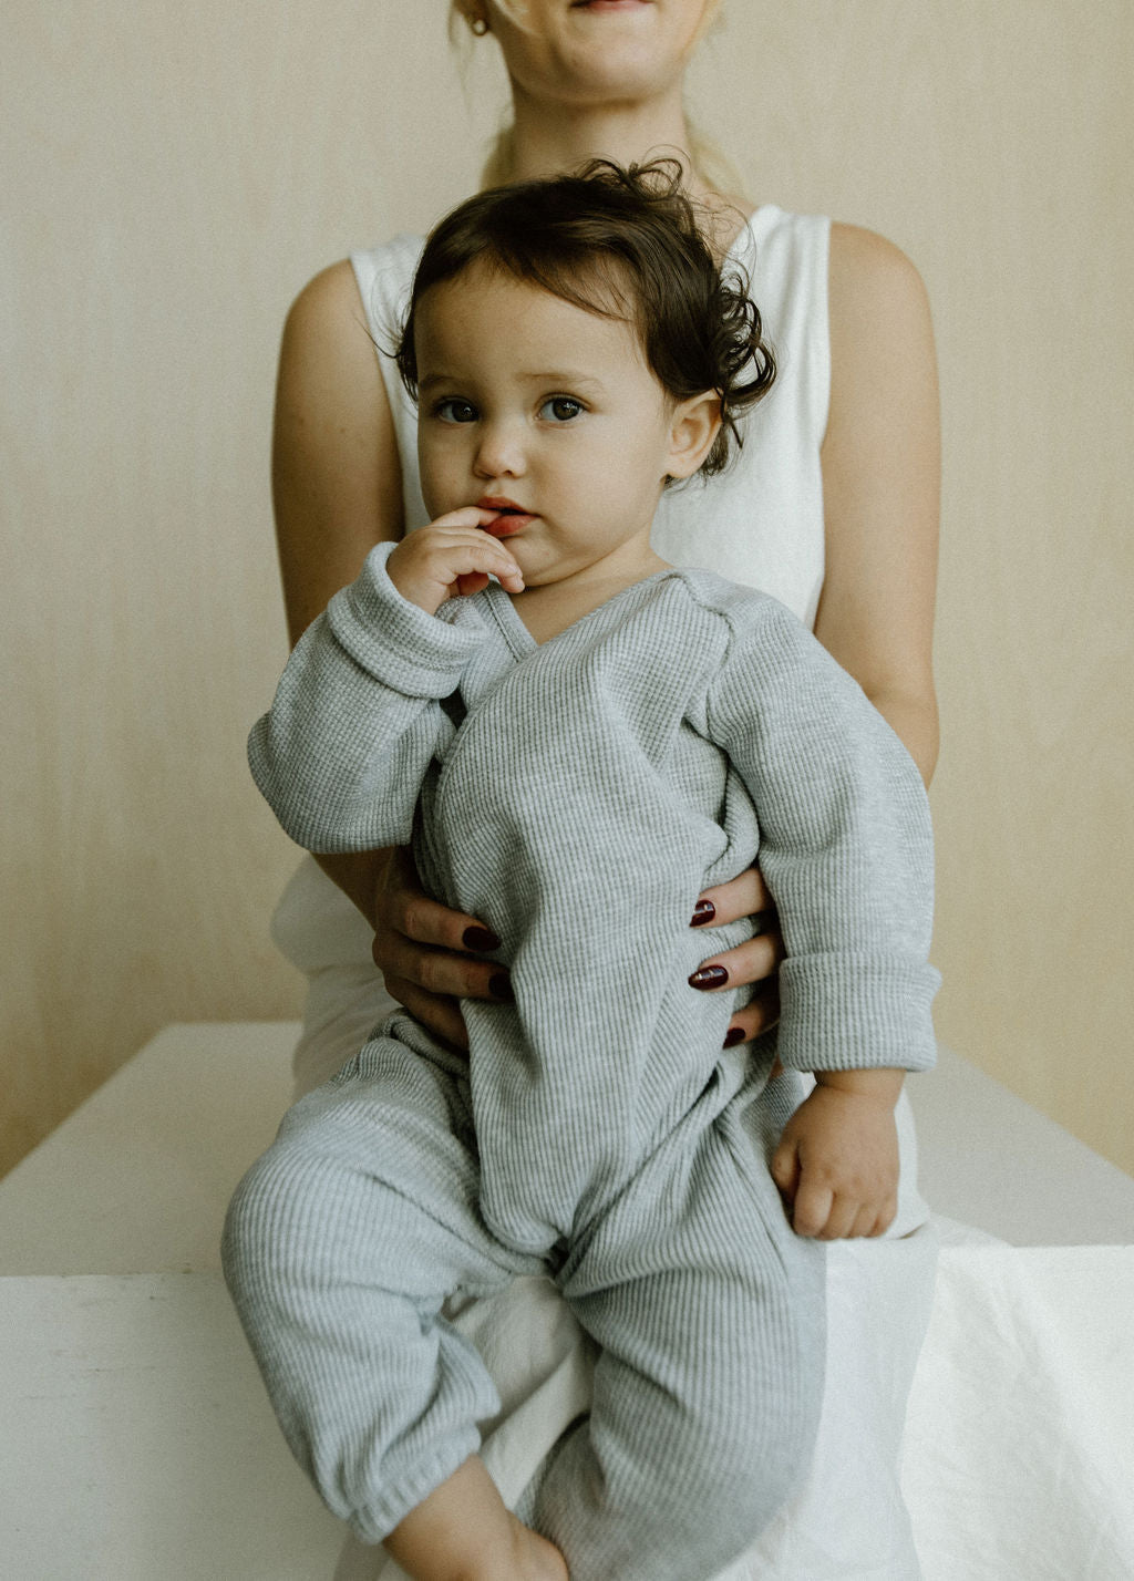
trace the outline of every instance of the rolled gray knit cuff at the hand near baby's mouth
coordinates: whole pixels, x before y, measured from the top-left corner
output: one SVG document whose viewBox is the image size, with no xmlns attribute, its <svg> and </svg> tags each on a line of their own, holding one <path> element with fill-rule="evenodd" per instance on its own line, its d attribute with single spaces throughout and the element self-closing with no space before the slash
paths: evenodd
<svg viewBox="0 0 1134 1581">
<path fill-rule="evenodd" d="M 375 544 L 356 580 L 327 604 L 327 624 L 354 662 L 384 686 L 405 697 L 448 697 L 484 642 L 484 628 L 479 617 L 438 620 L 402 598 L 386 574 L 395 549 Z"/>
</svg>

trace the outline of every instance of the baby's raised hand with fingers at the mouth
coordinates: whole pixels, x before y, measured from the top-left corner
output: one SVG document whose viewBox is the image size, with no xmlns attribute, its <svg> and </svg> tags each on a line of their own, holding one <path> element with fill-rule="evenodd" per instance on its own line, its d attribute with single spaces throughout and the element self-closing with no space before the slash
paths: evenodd
<svg viewBox="0 0 1134 1581">
<path fill-rule="evenodd" d="M 524 575 L 516 557 L 500 539 L 481 531 L 498 515 L 498 511 L 470 504 L 406 533 L 386 561 L 386 574 L 402 598 L 437 615 L 454 593 L 479 593 L 489 575 L 497 577 L 506 593 L 522 593 Z"/>
</svg>

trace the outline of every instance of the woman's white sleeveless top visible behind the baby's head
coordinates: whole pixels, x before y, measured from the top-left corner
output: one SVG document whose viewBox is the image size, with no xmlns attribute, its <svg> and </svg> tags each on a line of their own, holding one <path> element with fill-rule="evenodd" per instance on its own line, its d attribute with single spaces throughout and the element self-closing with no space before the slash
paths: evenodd
<svg viewBox="0 0 1134 1581">
<path fill-rule="evenodd" d="M 677 566 L 705 566 L 772 593 L 808 626 L 822 587 L 819 446 L 830 395 L 827 253 L 830 221 L 758 209 L 728 262 L 751 281 L 764 334 L 777 356 L 770 394 L 740 424 L 743 447 L 729 470 L 663 495 L 653 547 Z M 367 310 L 402 454 L 406 531 L 429 515 L 418 473 L 418 416 L 392 349 L 421 256 L 418 236 L 395 236 L 351 264 Z"/>
</svg>

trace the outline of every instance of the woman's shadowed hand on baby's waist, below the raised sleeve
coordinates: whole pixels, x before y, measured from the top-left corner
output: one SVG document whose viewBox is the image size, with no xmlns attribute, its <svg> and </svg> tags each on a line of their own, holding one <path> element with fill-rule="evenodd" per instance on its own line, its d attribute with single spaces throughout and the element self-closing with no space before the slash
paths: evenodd
<svg viewBox="0 0 1134 1581">
<path fill-rule="evenodd" d="M 386 990 L 437 1037 L 468 1048 L 457 1001 L 512 996 L 506 968 L 476 958 L 500 939 L 476 917 L 430 900 L 405 849 L 391 851 L 378 879 L 373 922 L 373 958 Z"/>
</svg>

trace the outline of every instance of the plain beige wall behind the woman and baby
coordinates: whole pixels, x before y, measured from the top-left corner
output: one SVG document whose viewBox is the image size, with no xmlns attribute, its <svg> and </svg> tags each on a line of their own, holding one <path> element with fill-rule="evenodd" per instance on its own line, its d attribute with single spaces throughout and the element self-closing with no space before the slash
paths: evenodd
<svg viewBox="0 0 1134 1581">
<path fill-rule="evenodd" d="M 941 1034 L 1134 1170 L 1134 11 L 728 9 L 696 93 L 751 194 L 887 232 L 935 302 Z M 473 185 L 498 77 L 462 89 L 441 0 L 11 0 L 5 35 L 9 1164 L 163 1023 L 296 1013 L 244 772 L 278 327 Z"/>
</svg>

